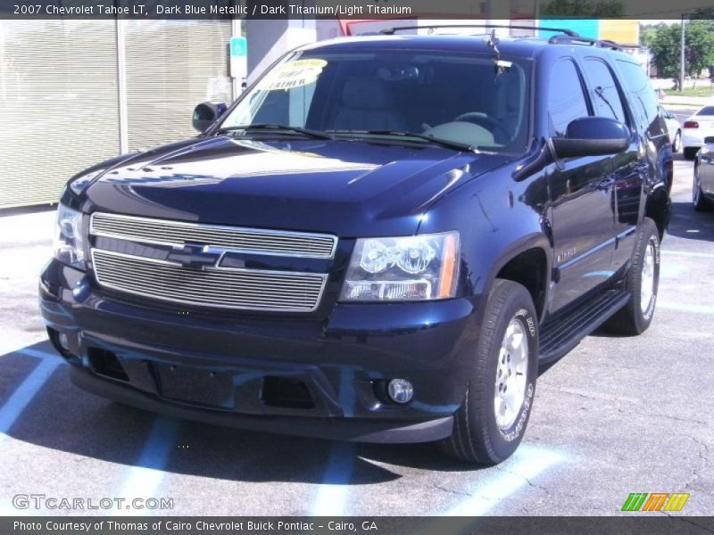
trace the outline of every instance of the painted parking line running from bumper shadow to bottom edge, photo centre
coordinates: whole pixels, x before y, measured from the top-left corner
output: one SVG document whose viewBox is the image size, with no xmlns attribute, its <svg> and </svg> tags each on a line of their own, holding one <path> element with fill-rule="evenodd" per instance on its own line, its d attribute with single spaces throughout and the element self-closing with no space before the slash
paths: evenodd
<svg viewBox="0 0 714 535">
<path fill-rule="evenodd" d="M 350 490 L 356 449 L 353 442 L 334 442 L 322 484 L 312 506 L 313 516 L 342 516 Z"/>
</svg>

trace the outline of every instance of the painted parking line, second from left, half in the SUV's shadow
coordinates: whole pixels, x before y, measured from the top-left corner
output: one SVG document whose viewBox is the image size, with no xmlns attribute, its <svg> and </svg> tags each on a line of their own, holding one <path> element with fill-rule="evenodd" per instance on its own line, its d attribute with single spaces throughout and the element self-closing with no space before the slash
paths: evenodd
<svg viewBox="0 0 714 535">
<path fill-rule="evenodd" d="M 131 498 L 160 498 L 156 491 L 165 475 L 164 469 L 169 463 L 171 450 L 179 435 L 180 422 L 168 416 L 156 416 L 151 431 L 146 437 L 144 448 L 137 460 L 137 465 L 129 470 L 119 496 Z M 119 511 L 118 515 L 137 514 L 134 510 Z"/>
</svg>

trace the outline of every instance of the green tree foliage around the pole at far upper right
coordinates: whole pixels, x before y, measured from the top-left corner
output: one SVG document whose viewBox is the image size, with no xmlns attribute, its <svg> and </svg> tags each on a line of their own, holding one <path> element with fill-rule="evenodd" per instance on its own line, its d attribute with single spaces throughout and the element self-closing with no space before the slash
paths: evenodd
<svg viewBox="0 0 714 535">
<path fill-rule="evenodd" d="M 651 31 L 653 29 L 653 31 Z M 679 76 L 679 54 L 682 27 L 679 24 L 649 27 L 640 35 L 643 44 L 652 48 L 657 72 L 663 78 Z M 647 42 L 644 42 L 644 39 Z M 699 73 L 714 65 L 714 31 L 711 21 L 687 22 L 685 31 L 685 73 L 698 77 Z"/>
</svg>

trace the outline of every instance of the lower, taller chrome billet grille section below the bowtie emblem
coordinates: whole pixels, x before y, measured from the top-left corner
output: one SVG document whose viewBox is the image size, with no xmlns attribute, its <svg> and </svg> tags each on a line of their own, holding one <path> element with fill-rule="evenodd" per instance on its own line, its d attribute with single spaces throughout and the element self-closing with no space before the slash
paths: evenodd
<svg viewBox="0 0 714 535">
<path fill-rule="evenodd" d="M 165 260 L 92 250 L 97 282 L 113 290 L 187 305 L 311 312 L 328 276 L 234 268 L 183 268 Z"/>
</svg>

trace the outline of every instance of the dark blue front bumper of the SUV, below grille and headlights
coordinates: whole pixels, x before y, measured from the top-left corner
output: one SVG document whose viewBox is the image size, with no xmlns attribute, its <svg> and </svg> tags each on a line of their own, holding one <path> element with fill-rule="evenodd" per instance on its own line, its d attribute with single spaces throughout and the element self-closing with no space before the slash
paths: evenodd
<svg viewBox="0 0 714 535">
<path fill-rule="evenodd" d="M 448 436 L 478 333 L 466 299 L 337 304 L 327 319 L 171 312 L 107 295 L 54 260 L 40 308 L 80 388 L 210 424 L 336 440 Z M 407 405 L 386 397 L 397 377 L 414 386 Z M 299 385 L 302 397 L 276 398 L 276 384 Z"/>
</svg>

